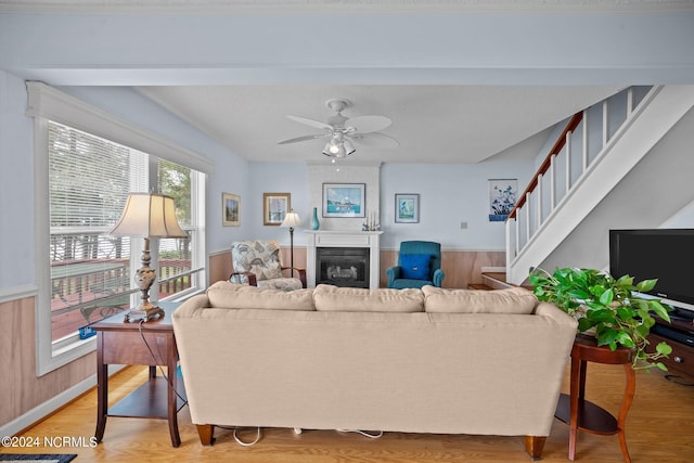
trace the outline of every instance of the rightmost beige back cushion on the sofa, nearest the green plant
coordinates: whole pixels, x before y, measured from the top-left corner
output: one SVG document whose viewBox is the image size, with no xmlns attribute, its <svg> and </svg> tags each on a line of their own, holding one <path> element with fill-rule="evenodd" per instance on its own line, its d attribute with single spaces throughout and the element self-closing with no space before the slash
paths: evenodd
<svg viewBox="0 0 694 463">
<path fill-rule="evenodd" d="M 424 286 L 424 310 L 453 313 L 532 313 L 537 298 L 522 287 L 507 290 L 444 290 Z"/>
</svg>

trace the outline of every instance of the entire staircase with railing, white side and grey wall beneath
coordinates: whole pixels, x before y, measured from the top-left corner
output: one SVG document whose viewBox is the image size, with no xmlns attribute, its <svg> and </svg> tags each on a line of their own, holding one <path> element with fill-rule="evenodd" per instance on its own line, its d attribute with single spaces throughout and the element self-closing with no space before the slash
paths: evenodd
<svg viewBox="0 0 694 463">
<path fill-rule="evenodd" d="M 694 205 L 694 86 L 632 87 L 567 124 L 506 220 L 506 279 L 608 267 L 608 230 Z M 692 224 L 694 227 L 694 224 Z"/>
</svg>

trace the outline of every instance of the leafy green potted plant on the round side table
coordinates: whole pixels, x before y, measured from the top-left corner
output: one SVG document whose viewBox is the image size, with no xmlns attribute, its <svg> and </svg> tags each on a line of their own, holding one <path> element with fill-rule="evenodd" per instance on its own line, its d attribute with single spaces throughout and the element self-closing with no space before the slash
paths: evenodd
<svg viewBox="0 0 694 463">
<path fill-rule="evenodd" d="M 554 304 L 578 320 L 578 332 L 593 334 L 597 346 L 612 350 L 627 347 L 634 350 L 634 369 L 657 366 L 667 371 L 659 359 L 669 356 L 672 348 L 659 343 L 655 350 L 646 352 L 647 336 L 655 324 L 652 313 L 670 322 L 668 311 L 672 308 L 659 299 L 641 297 L 634 292 L 645 293 L 657 280 L 634 279 L 624 275 L 615 279 L 607 272 L 594 269 L 556 269 L 549 273 L 540 268 L 530 268 L 529 282 L 539 300 Z"/>
</svg>

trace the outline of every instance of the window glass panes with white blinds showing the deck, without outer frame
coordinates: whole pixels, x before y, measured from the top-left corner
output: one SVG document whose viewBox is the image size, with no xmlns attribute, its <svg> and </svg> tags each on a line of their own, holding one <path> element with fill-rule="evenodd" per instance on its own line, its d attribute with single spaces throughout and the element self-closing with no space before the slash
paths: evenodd
<svg viewBox="0 0 694 463">
<path fill-rule="evenodd" d="M 150 156 L 48 121 L 52 340 L 137 306 L 136 240 L 108 236 L 128 193 L 147 191 Z M 174 196 L 181 227 L 192 231 L 191 179 L 195 170 L 156 159 L 160 193 Z M 192 239 L 194 235 L 192 234 Z M 192 240 L 159 240 L 159 298 L 191 288 Z M 153 293 L 156 294 L 156 291 Z"/>
</svg>

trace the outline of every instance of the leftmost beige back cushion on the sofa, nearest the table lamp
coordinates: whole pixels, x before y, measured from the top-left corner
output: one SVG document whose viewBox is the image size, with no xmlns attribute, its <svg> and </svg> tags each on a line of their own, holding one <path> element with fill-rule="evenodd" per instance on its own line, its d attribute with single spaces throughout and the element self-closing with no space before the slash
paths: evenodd
<svg viewBox="0 0 694 463">
<path fill-rule="evenodd" d="M 207 288 L 207 297 L 217 308 L 316 310 L 312 290 L 285 292 L 219 281 Z"/>
</svg>

